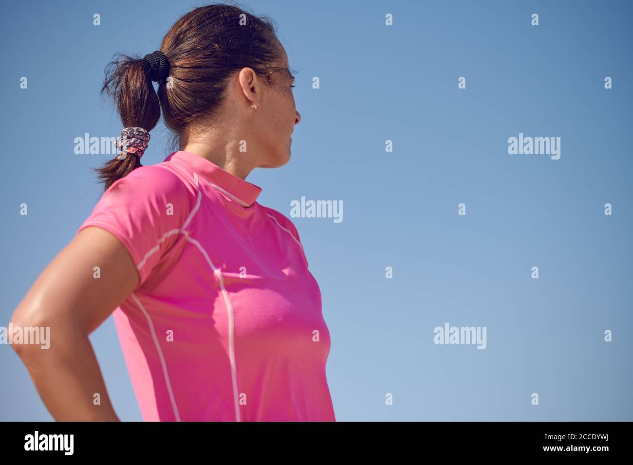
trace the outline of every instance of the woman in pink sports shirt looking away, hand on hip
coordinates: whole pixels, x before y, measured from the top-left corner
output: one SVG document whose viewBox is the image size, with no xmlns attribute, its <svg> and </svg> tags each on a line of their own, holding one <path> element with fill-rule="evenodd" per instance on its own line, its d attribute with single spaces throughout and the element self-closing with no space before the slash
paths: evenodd
<svg viewBox="0 0 633 465">
<path fill-rule="evenodd" d="M 270 20 L 196 8 L 160 51 L 111 65 L 122 152 L 11 319 L 51 328 L 48 350 L 13 345 L 47 408 L 118 421 L 88 338 L 113 313 L 146 421 L 334 421 L 320 290 L 294 225 L 246 181 L 287 163 L 301 119 Z M 161 110 L 180 150 L 141 166 Z"/>
</svg>

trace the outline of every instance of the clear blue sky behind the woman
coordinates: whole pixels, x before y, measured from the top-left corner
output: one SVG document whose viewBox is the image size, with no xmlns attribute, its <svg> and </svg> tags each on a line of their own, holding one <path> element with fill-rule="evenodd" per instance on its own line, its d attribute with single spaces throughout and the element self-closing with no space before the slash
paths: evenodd
<svg viewBox="0 0 633 465">
<path fill-rule="evenodd" d="M 122 128 L 104 66 L 158 49 L 201 4 L 3 5 L 0 325 L 99 198 L 90 168 L 109 157 L 73 140 Z M 244 4 L 279 25 L 302 116 L 290 163 L 249 176 L 258 201 L 287 216 L 302 196 L 344 204 L 341 223 L 292 219 L 322 290 L 337 419 L 633 420 L 632 3 Z M 519 133 L 560 137 L 560 159 L 508 154 Z M 144 164 L 167 137 L 152 132 Z M 434 344 L 447 322 L 486 326 L 486 349 Z M 141 420 L 111 318 L 91 341 L 116 412 Z M 0 420 L 52 419 L 8 345 L 0 368 Z"/>
</svg>

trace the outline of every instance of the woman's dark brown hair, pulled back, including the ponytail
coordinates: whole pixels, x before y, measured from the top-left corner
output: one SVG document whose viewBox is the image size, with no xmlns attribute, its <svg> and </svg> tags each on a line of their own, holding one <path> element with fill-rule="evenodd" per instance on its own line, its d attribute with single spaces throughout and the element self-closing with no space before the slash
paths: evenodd
<svg viewBox="0 0 633 465">
<path fill-rule="evenodd" d="M 169 60 L 172 87 L 158 81 L 158 94 L 149 75 L 149 62 L 139 56 L 119 55 L 106 66 L 101 93 L 116 102 L 123 127 L 152 130 L 160 119 L 180 140 L 199 118 L 214 118 L 223 101 L 230 76 L 252 68 L 270 84 L 279 59 L 273 20 L 254 16 L 227 3 L 189 11 L 165 35 L 160 51 Z M 149 51 L 147 52 L 149 53 Z M 182 141 L 180 141 L 182 142 Z M 139 158 L 117 157 L 97 168 L 104 190 L 141 166 Z"/>
</svg>

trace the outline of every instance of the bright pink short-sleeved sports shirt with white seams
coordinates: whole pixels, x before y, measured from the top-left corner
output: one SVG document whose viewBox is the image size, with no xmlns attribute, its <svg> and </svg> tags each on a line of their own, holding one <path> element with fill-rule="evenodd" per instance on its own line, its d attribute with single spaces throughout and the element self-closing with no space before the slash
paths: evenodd
<svg viewBox="0 0 633 465">
<path fill-rule="evenodd" d="M 141 282 L 113 313 L 145 421 L 335 421 L 330 333 L 292 222 L 190 152 L 117 180 L 82 223 Z"/>
</svg>

